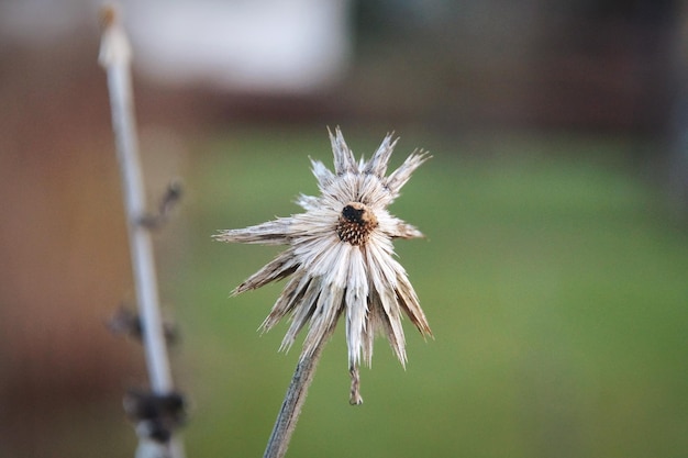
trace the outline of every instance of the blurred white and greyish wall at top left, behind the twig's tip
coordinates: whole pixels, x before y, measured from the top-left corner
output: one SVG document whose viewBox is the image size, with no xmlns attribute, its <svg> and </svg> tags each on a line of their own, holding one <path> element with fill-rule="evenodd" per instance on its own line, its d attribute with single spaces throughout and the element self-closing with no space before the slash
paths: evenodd
<svg viewBox="0 0 688 458">
<path fill-rule="evenodd" d="M 347 68 L 351 0 L 121 3 L 136 69 L 160 83 L 308 93 L 337 81 Z M 0 2 L 0 40 L 49 45 L 88 27 L 89 21 L 95 25 L 100 4 L 95 0 Z"/>
</svg>

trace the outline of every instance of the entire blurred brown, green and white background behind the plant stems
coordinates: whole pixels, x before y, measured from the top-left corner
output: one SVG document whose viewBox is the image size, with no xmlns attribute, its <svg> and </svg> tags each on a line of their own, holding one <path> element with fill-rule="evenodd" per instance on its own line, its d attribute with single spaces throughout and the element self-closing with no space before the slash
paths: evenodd
<svg viewBox="0 0 688 458">
<path fill-rule="evenodd" d="M 99 3 L 0 2 L 0 456 L 132 456 L 141 347 Z M 288 456 L 684 457 L 688 9 L 680 1 L 126 1 L 187 455 L 259 456 L 296 365 L 229 298 L 275 247 L 220 228 L 298 212 L 326 126 L 433 159 L 391 211 L 435 339 L 384 339 L 347 403 L 343 329 Z M 407 322 L 408 324 L 408 322 Z"/>
</svg>

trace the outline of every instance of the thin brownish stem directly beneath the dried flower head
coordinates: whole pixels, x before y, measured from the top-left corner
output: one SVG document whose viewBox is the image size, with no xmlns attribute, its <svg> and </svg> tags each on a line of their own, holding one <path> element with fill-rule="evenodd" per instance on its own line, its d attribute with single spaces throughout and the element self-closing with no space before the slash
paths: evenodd
<svg viewBox="0 0 688 458">
<path fill-rule="evenodd" d="M 321 344 L 311 354 L 306 354 L 299 359 L 263 458 L 281 458 L 287 453 L 323 347 L 324 344 Z"/>
</svg>

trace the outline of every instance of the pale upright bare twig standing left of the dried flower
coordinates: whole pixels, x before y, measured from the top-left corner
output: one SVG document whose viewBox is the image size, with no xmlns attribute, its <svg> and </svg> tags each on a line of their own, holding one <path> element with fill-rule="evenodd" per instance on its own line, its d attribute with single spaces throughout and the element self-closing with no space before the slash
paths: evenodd
<svg viewBox="0 0 688 458">
<path fill-rule="evenodd" d="M 138 223 L 145 214 L 145 194 L 133 109 L 131 47 L 115 7 L 103 7 L 101 21 L 103 32 L 99 62 L 108 75 L 112 127 L 122 176 L 134 284 L 145 329 L 143 342 L 146 365 L 152 391 L 166 394 L 174 390 L 174 386 L 159 311 L 153 245 L 151 234 Z M 160 449 L 154 453 L 170 458 L 181 457 L 184 453 L 180 443 L 170 444 L 162 444 Z M 151 447 L 146 445 L 146 449 Z"/>
</svg>

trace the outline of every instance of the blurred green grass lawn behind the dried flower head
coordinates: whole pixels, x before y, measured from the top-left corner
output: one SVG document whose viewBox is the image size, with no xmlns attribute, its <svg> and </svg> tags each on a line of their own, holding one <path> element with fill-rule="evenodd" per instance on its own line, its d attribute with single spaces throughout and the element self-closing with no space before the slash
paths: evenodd
<svg viewBox="0 0 688 458">
<path fill-rule="evenodd" d="M 189 456 L 260 456 L 300 351 L 277 353 L 284 324 L 256 333 L 282 284 L 229 298 L 279 249 L 210 235 L 298 212 L 317 192 L 308 156 L 331 164 L 325 134 L 231 132 L 193 158 L 175 273 Z M 344 134 L 369 156 L 384 131 Z M 288 456 L 684 456 L 688 241 L 628 145 L 403 134 L 393 165 L 434 156 L 391 211 L 428 236 L 396 246 L 435 339 L 406 322 L 406 371 L 378 339 L 352 407 L 340 328 Z"/>
</svg>

